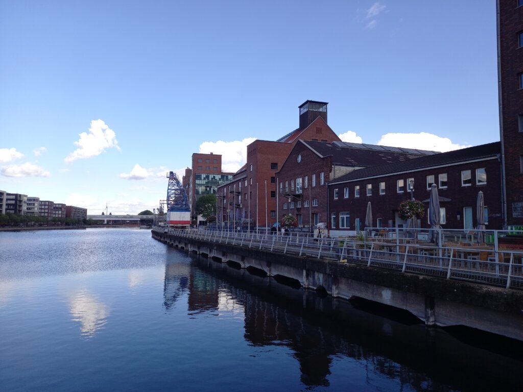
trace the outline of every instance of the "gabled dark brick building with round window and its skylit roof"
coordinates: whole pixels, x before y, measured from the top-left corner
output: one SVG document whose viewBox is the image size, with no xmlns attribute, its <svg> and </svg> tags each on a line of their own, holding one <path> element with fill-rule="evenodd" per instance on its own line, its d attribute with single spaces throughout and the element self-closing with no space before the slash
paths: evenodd
<svg viewBox="0 0 523 392">
<path fill-rule="evenodd" d="M 276 173 L 279 220 L 296 216 L 299 227 L 328 222 L 327 182 L 349 172 L 436 154 L 410 148 L 299 140 Z"/>
</svg>

